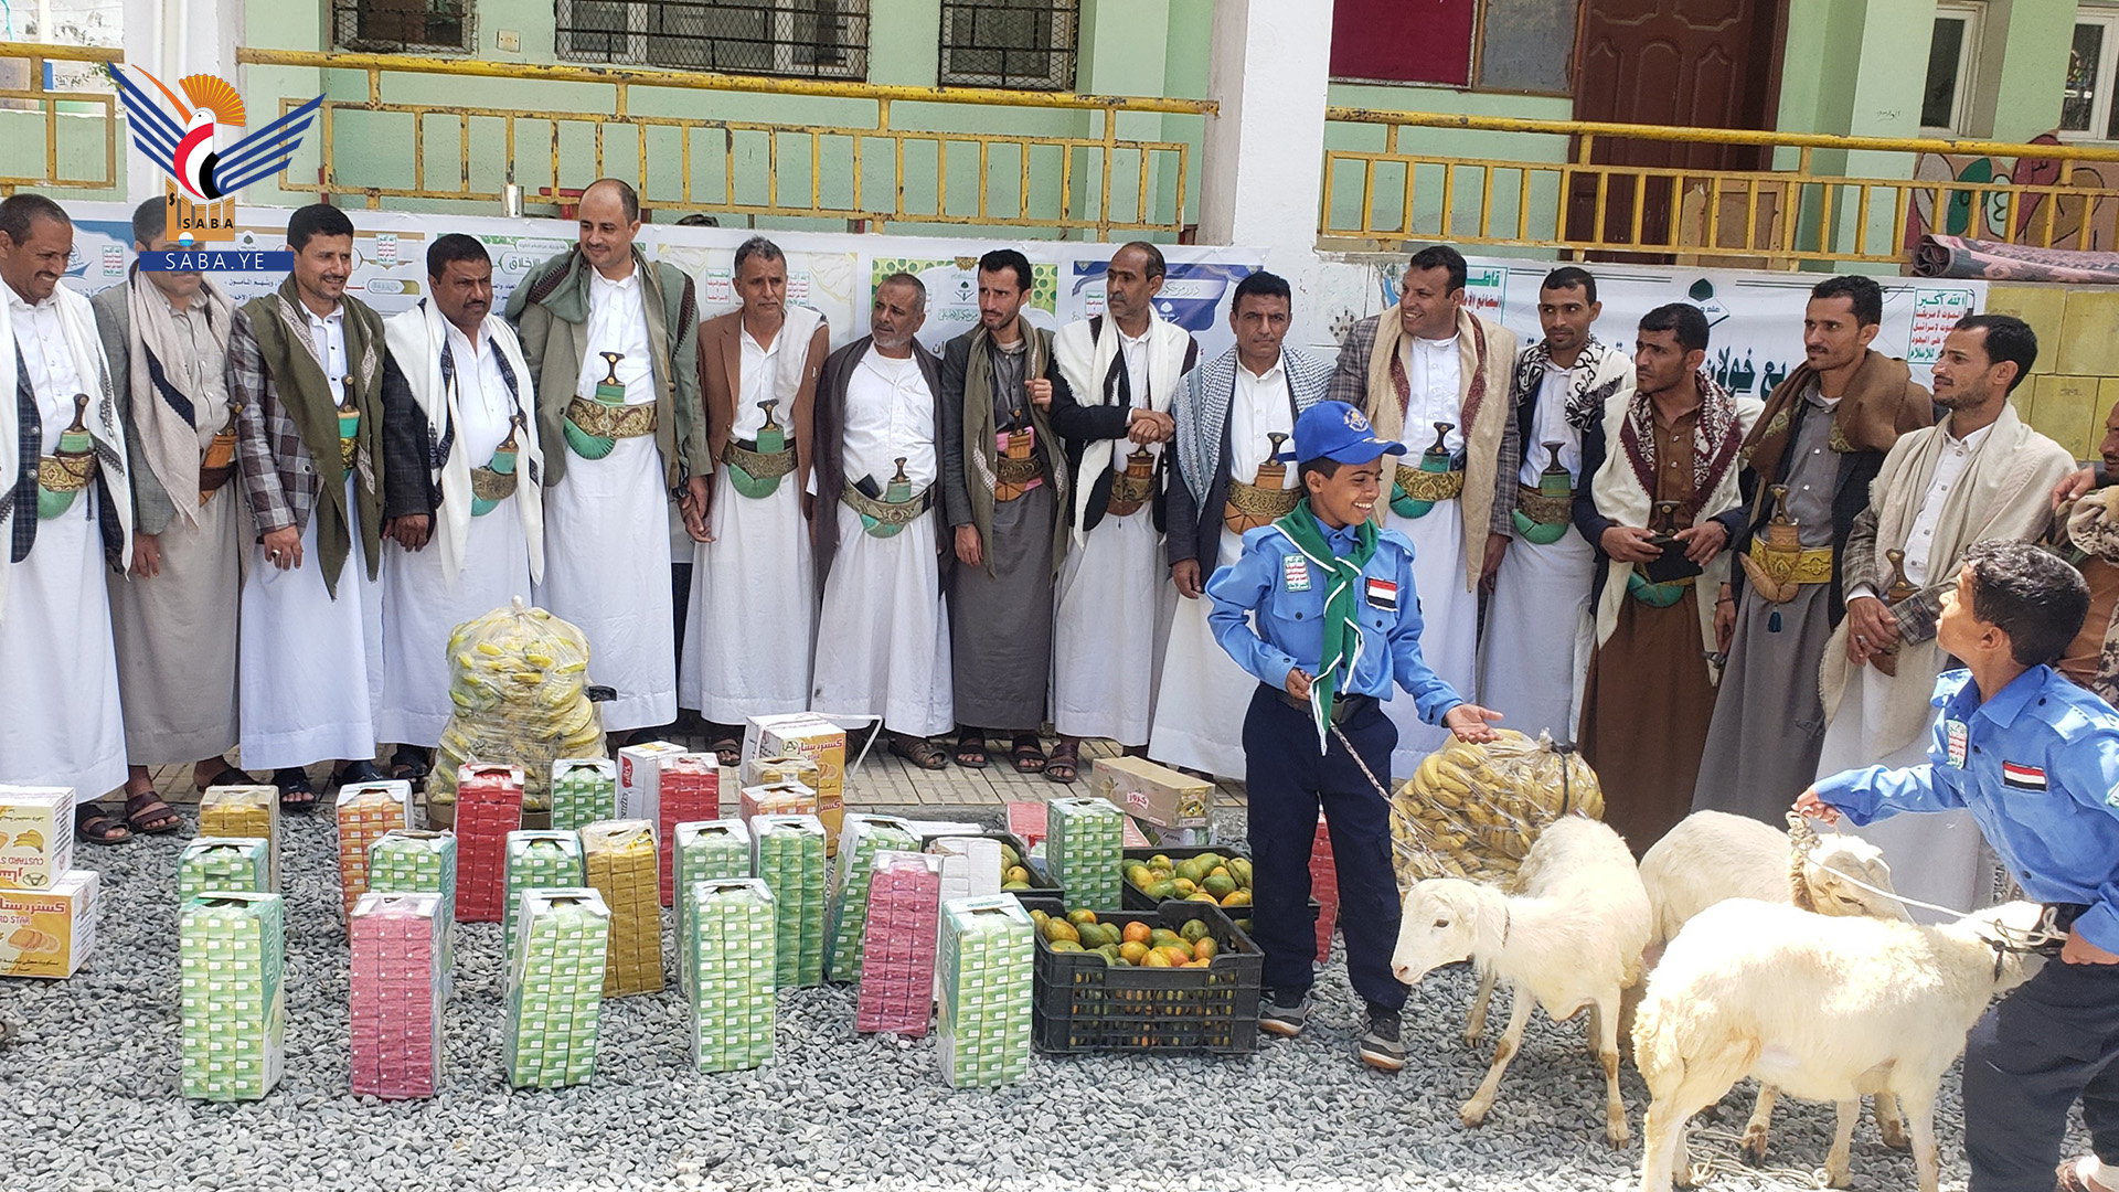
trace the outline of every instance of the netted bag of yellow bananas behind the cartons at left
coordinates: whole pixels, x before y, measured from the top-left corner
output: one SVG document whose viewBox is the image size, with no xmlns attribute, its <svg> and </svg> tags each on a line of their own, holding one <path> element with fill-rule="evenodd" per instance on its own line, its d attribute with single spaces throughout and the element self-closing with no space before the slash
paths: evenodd
<svg viewBox="0 0 2119 1192">
<path fill-rule="evenodd" d="M 517 598 L 449 634 L 449 700 L 428 808 L 456 808 L 466 761 L 523 768 L 523 810 L 551 810 L 551 764 L 602 757 L 604 715 L 589 702 L 589 638 Z"/>
</svg>

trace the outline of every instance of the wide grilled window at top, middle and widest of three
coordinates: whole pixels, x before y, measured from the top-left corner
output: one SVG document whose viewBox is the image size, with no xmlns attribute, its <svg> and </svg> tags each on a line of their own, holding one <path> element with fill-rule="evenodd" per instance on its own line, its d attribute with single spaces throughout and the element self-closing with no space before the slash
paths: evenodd
<svg viewBox="0 0 2119 1192">
<path fill-rule="evenodd" d="M 559 57 L 867 78 L 869 0 L 555 0 Z"/>
</svg>

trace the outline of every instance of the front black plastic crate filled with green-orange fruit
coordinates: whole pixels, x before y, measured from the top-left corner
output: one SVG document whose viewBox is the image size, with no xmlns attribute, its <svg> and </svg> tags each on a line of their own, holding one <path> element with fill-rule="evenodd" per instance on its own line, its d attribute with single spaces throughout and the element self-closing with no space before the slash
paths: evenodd
<svg viewBox="0 0 2119 1192">
<path fill-rule="evenodd" d="M 1085 923 L 1068 921 L 1051 899 L 1023 906 L 1038 921 L 1030 1037 L 1040 1052 L 1259 1050 L 1265 957 L 1218 906 L 1165 901 L 1093 912 Z M 1096 948 L 1085 946 L 1085 929 Z"/>
</svg>

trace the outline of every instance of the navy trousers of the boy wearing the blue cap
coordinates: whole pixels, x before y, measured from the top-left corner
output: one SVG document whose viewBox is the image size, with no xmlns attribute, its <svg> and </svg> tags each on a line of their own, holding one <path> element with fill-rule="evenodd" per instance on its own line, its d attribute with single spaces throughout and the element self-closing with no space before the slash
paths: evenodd
<svg viewBox="0 0 2119 1192">
<path fill-rule="evenodd" d="M 1339 725 L 1379 781 L 1390 783 L 1390 751 L 1399 730 L 1382 704 Z M 1339 870 L 1339 931 L 1346 935 L 1346 971 L 1354 993 L 1382 1010 L 1405 1005 L 1405 986 L 1390 976 L 1399 946 L 1399 880 L 1390 867 L 1390 804 L 1363 776 L 1360 766 L 1318 730 L 1307 711 L 1290 708 L 1271 687 L 1259 685 L 1244 717 L 1246 785 L 1250 797 L 1252 940 L 1265 950 L 1265 988 L 1303 991 L 1316 980 L 1316 927 L 1310 921 L 1310 848 L 1318 808 L 1331 827 Z"/>
</svg>

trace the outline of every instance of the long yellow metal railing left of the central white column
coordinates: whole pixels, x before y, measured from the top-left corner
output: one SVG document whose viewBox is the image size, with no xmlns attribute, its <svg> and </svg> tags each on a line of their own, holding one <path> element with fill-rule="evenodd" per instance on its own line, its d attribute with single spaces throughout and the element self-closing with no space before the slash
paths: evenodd
<svg viewBox="0 0 2119 1192">
<path fill-rule="evenodd" d="M 542 195 L 545 201 L 564 201 L 562 195 L 593 178 L 615 170 L 623 176 L 629 170 L 642 204 L 684 212 L 869 221 L 877 229 L 886 223 L 922 223 L 1096 229 L 1100 235 L 1123 229 L 1174 233 L 1189 221 L 1185 191 L 1191 144 L 1121 138 L 1119 121 L 1127 115 L 1204 117 L 1216 110 L 1206 100 L 886 87 L 364 53 L 242 49 L 237 59 L 252 68 L 326 72 L 322 115 L 297 161 L 309 157 L 311 146 L 318 159 L 314 165 L 288 165 L 280 187 L 362 195 L 371 208 L 386 197 L 500 201 L 509 185 L 521 187 L 532 199 Z M 331 76 L 337 72 L 364 76 L 364 95 L 333 95 Z M 481 87 L 506 89 L 521 83 L 576 87 L 568 98 L 578 106 L 521 108 L 432 98 L 437 87 L 456 85 L 462 93 L 477 93 Z M 578 85 L 608 91 L 583 95 Z M 716 104 L 714 93 L 788 98 L 820 117 L 845 112 L 845 102 L 852 100 L 869 104 L 873 119 L 797 123 L 670 110 L 737 106 L 733 100 Z M 282 100 L 282 110 L 295 102 L 299 100 Z M 943 106 L 958 112 L 956 121 L 973 123 L 979 132 L 905 121 L 905 108 L 915 104 L 915 115 L 932 117 L 934 108 L 928 106 Z M 983 112 L 964 115 L 966 108 Z M 994 108 L 1096 112 L 1100 119 L 1085 134 L 994 132 L 983 127 L 996 123 Z M 394 123 L 375 123 L 377 119 Z M 439 136 L 456 140 L 456 161 L 443 159 L 430 168 L 430 123 L 441 125 Z M 377 136 L 388 142 L 381 151 L 375 146 Z M 549 157 L 538 153 L 538 142 L 549 142 Z M 409 178 L 384 180 L 386 170 L 403 165 L 405 146 L 411 148 Z M 475 146 L 498 146 L 498 153 L 481 157 Z M 960 172 L 964 159 L 977 155 L 977 187 L 968 197 L 962 180 L 951 197 L 951 148 Z"/>
</svg>

